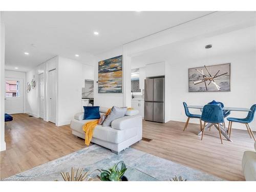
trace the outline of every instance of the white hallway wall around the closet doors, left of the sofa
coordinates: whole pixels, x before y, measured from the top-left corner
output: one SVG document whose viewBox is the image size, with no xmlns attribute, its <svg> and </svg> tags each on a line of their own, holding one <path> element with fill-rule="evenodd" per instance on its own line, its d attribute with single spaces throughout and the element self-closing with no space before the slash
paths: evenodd
<svg viewBox="0 0 256 192">
<path fill-rule="evenodd" d="M 49 111 L 49 71 L 57 70 L 57 119 L 56 125 L 61 126 L 69 124 L 75 113 L 81 111 L 82 87 L 84 79 L 94 79 L 94 67 L 84 65 L 83 63 L 65 57 L 53 57 L 33 70 L 26 73 L 27 81 L 31 82 L 32 78 L 36 80 L 37 74 L 45 73 L 45 118 L 48 121 Z M 36 84 L 36 87 L 37 84 Z M 27 93 L 26 112 L 38 117 L 39 102 L 37 98 L 37 88 L 31 89 Z"/>
</svg>

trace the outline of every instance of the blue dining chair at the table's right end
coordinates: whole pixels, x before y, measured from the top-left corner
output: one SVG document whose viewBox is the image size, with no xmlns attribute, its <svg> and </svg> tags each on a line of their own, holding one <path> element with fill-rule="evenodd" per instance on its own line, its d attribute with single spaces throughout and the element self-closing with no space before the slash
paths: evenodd
<svg viewBox="0 0 256 192">
<path fill-rule="evenodd" d="M 250 128 L 250 126 L 249 126 L 249 123 L 253 120 L 253 117 L 254 117 L 254 114 L 255 114 L 255 111 L 256 111 L 256 104 L 253 104 L 253 105 L 251 106 L 250 110 L 251 110 L 251 111 L 248 112 L 248 115 L 247 115 L 246 118 L 243 118 L 243 119 L 241 119 L 241 118 L 234 118 L 234 117 L 228 117 L 228 118 L 227 118 L 227 120 L 229 121 L 229 123 L 228 123 L 229 138 L 230 138 L 230 136 L 231 136 L 232 123 L 233 123 L 233 122 L 238 122 L 238 123 L 244 123 L 244 124 L 245 124 L 245 126 L 246 126 L 246 128 L 247 128 L 247 131 L 248 131 L 248 133 L 249 133 L 249 135 L 250 135 L 250 138 L 253 137 L 254 141 L 256 141 L 256 140 L 255 140 L 255 137 L 254 137 L 254 135 L 253 135 L 253 133 L 252 133 L 252 131 L 251 131 L 251 128 Z"/>
</svg>

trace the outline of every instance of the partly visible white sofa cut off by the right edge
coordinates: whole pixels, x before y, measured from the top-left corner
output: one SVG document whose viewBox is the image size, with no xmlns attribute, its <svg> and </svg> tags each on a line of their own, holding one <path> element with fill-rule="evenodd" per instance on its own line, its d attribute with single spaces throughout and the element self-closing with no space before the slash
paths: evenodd
<svg viewBox="0 0 256 192">
<path fill-rule="evenodd" d="M 256 142 L 254 143 L 256 151 Z M 245 151 L 242 159 L 242 168 L 246 181 L 256 181 L 256 152 Z"/>
</svg>

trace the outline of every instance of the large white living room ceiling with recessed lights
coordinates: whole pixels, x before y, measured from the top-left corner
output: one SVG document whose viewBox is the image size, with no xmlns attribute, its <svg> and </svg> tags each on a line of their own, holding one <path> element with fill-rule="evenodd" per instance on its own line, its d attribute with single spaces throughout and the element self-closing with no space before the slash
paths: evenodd
<svg viewBox="0 0 256 192">
<path fill-rule="evenodd" d="M 6 69 L 29 71 L 55 55 L 92 65 L 93 55 L 209 13 L 3 12 Z"/>
</svg>

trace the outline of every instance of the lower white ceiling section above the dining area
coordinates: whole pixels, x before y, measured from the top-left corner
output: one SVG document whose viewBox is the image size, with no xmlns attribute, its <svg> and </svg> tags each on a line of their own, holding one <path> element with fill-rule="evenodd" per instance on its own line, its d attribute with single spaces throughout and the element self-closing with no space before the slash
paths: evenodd
<svg viewBox="0 0 256 192">
<path fill-rule="evenodd" d="M 211 44 L 211 49 L 205 46 Z M 239 54 L 245 51 L 256 51 L 256 27 L 248 27 L 224 33 L 221 35 L 202 38 L 186 43 L 169 44 L 148 50 L 132 58 L 132 69 L 144 67 L 148 63 L 184 58 L 203 59 L 229 53 Z"/>
</svg>

